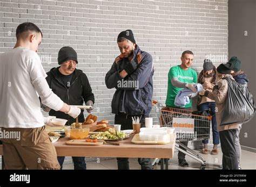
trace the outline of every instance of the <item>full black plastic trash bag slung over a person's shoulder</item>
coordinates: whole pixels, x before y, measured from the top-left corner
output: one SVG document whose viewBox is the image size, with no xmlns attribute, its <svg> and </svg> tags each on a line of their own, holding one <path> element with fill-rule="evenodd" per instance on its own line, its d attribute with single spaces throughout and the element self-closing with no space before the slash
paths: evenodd
<svg viewBox="0 0 256 187">
<path fill-rule="evenodd" d="M 221 114 L 220 126 L 247 123 L 255 113 L 252 93 L 247 87 L 241 87 L 229 77 L 223 79 L 228 83 L 228 90 L 223 113 Z"/>
</svg>

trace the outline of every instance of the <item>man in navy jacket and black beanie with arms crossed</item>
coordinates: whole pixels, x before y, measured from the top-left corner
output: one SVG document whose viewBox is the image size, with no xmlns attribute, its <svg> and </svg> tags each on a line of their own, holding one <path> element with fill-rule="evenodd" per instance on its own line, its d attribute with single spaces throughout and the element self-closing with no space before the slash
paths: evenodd
<svg viewBox="0 0 256 187">
<path fill-rule="evenodd" d="M 112 99 L 114 124 L 121 124 L 121 130 L 132 129 L 132 117 L 149 117 L 153 93 L 152 56 L 140 50 L 131 30 L 120 32 L 117 44 L 121 54 L 105 76 L 106 87 L 116 88 Z M 142 169 L 152 169 L 150 159 L 139 158 Z M 117 158 L 118 169 L 129 169 L 128 158 Z"/>
</svg>

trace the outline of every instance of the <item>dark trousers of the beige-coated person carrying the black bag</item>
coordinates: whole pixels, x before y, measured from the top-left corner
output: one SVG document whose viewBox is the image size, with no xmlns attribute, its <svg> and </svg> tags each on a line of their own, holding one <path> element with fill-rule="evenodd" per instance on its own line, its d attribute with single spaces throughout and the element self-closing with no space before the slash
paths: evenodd
<svg viewBox="0 0 256 187">
<path fill-rule="evenodd" d="M 235 149 L 236 133 L 237 129 L 219 132 L 223 169 L 238 169 L 237 150 Z"/>
</svg>

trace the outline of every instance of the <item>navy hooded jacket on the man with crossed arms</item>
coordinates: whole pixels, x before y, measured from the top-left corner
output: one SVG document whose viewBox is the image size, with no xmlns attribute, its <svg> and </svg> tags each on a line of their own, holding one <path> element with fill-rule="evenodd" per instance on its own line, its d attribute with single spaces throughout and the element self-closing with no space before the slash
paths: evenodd
<svg viewBox="0 0 256 187">
<path fill-rule="evenodd" d="M 127 58 L 123 58 L 119 61 L 115 61 L 112 64 L 111 69 L 107 72 L 105 76 L 106 87 L 116 88 L 114 96 L 112 99 L 111 107 L 112 113 L 118 114 L 120 105 L 122 103 L 123 93 L 125 91 L 125 100 L 124 100 L 124 109 L 127 115 L 140 115 L 144 114 L 149 116 L 152 106 L 152 94 L 153 94 L 153 61 L 152 56 L 144 51 L 139 49 L 139 46 L 136 46 L 136 49 L 133 52 L 133 60 L 137 58 L 138 68 L 131 74 L 122 78 L 119 76 L 119 72 L 122 71 L 127 63 L 130 61 Z M 118 84 L 122 81 L 132 81 L 138 83 L 138 87 L 120 87 Z"/>
</svg>

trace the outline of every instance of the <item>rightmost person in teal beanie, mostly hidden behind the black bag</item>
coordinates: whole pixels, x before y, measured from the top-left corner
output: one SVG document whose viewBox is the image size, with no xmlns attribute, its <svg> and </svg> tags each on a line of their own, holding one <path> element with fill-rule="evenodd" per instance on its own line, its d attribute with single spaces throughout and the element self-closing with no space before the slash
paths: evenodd
<svg viewBox="0 0 256 187">
<path fill-rule="evenodd" d="M 248 83 L 248 78 L 246 77 L 243 70 L 241 70 L 241 61 L 238 59 L 237 56 L 232 56 L 231 59 L 227 62 L 230 64 L 231 68 L 231 75 L 233 76 L 234 80 L 242 87 L 246 88 Z M 239 134 L 242 128 L 242 124 L 239 124 L 239 128 L 237 134 L 235 136 L 235 149 L 237 149 L 237 157 L 238 157 L 238 168 L 241 169 L 241 146 L 239 142 Z"/>
</svg>

